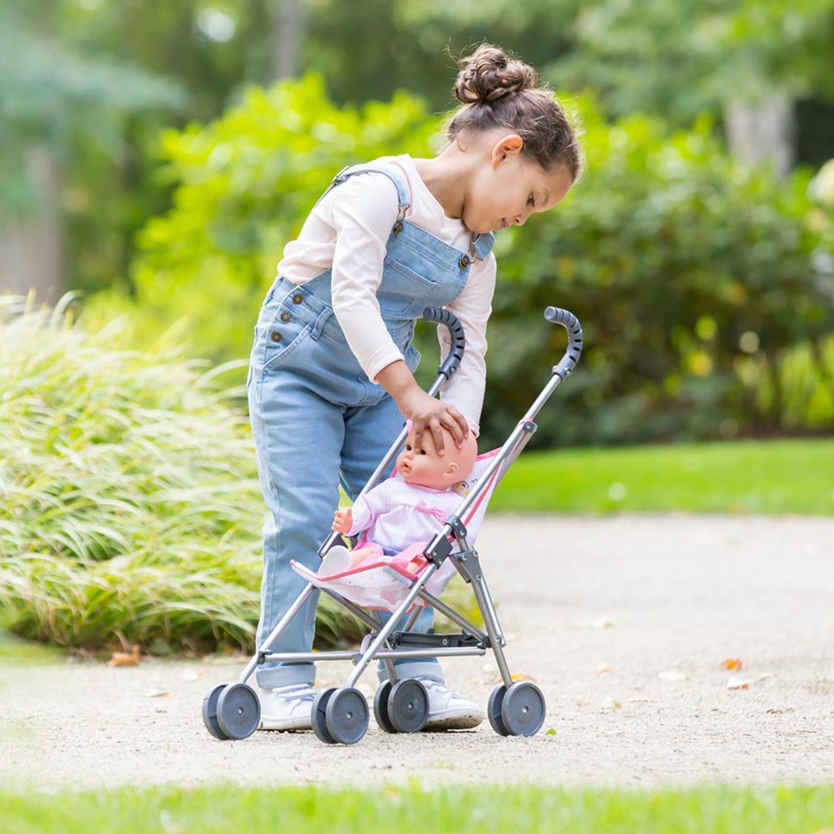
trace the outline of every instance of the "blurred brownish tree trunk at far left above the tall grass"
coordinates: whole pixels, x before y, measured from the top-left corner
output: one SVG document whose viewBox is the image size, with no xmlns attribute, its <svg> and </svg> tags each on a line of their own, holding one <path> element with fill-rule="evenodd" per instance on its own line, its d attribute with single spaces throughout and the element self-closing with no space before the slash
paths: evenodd
<svg viewBox="0 0 834 834">
<path fill-rule="evenodd" d="M 60 172 L 43 147 L 28 151 L 26 166 L 37 208 L 0 229 L 0 289 L 23 295 L 34 289 L 38 301 L 54 304 L 64 287 Z"/>
</svg>

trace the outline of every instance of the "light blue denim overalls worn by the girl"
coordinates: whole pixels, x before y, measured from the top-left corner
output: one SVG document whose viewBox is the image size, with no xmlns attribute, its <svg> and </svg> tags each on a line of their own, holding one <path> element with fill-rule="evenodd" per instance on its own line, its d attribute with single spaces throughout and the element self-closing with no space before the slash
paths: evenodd
<svg viewBox="0 0 834 834">
<path fill-rule="evenodd" d="M 394 344 L 414 371 L 420 362 L 411 344 L 415 319 L 425 307 L 443 307 L 460 295 L 472 257 L 485 258 L 493 237 L 475 236 L 465 253 L 409 223 L 404 219 L 409 208 L 404 175 L 394 167 L 345 168 L 330 188 L 370 171 L 389 177 L 399 197 L 376 297 Z M 349 498 L 358 495 L 404 422 L 394 399 L 370 382 L 344 338 L 331 304 L 330 272 L 326 269 L 304 284 L 279 276 L 255 327 L 247 383 L 249 419 L 261 489 L 271 511 L 264 525 L 258 646 L 304 589 L 289 560 L 318 570 L 317 550 L 339 505 L 339 481 Z M 274 651 L 310 651 L 318 596 L 316 591 Z M 434 610 L 425 609 L 418 630 L 426 631 L 433 620 Z M 443 682 L 435 660 L 404 660 L 397 673 Z M 269 664 L 259 667 L 257 677 L 263 688 L 312 685 L 315 670 L 311 663 Z M 380 679 L 384 677 L 381 667 Z"/>
</svg>

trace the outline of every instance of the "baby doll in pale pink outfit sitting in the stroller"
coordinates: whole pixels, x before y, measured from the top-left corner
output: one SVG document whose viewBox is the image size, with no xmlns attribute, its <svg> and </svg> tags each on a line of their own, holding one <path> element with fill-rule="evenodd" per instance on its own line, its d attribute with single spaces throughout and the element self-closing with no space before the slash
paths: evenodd
<svg viewBox="0 0 834 834">
<path fill-rule="evenodd" d="M 388 478 L 361 495 L 353 507 L 336 510 L 333 529 L 344 535 L 364 532 L 364 545 L 354 550 L 336 545 L 322 560 L 319 575 L 349 570 L 369 556 L 396 555 L 415 543 L 427 543 L 440 532 L 445 520 L 460 505 L 461 495 L 452 487 L 465 480 L 478 456 L 475 436 L 465 438 L 460 448 L 447 429 L 445 454 L 438 455 L 430 431 L 423 435 L 420 450 L 409 432 L 397 458 L 399 478 Z M 414 562 L 420 560 L 416 554 Z M 413 568 L 414 562 L 409 563 Z"/>
</svg>

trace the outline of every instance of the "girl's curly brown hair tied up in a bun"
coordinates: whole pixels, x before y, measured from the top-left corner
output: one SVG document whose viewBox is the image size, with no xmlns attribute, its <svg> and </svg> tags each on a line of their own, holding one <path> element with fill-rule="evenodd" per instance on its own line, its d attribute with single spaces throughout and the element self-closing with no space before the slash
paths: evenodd
<svg viewBox="0 0 834 834">
<path fill-rule="evenodd" d="M 582 152 L 574 128 L 553 91 L 538 84 L 539 75 L 503 49 L 485 43 L 458 62 L 453 92 L 463 103 L 452 114 L 446 135 L 509 128 L 524 140 L 521 153 L 550 172 L 560 165 L 575 181 L 582 170 Z"/>
</svg>

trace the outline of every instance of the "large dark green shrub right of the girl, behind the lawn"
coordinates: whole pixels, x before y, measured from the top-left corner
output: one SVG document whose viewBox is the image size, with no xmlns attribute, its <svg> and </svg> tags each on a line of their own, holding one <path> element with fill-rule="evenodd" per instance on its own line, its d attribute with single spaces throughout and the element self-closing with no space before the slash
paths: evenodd
<svg viewBox="0 0 834 834">
<path fill-rule="evenodd" d="M 733 163 L 702 120 L 672 135 L 585 107 L 588 167 L 565 202 L 499 235 L 486 428 L 517 419 L 585 330 L 541 445 L 732 437 L 834 425 L 834 226 L 807 195 Z"/>
</svg>

